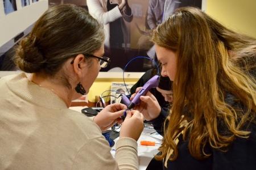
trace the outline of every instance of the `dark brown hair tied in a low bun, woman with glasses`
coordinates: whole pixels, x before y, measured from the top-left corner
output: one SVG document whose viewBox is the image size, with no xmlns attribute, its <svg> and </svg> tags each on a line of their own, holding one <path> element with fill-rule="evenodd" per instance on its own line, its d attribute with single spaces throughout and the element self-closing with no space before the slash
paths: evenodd
<svg viewBox="0 0 256 170">
<path fill-rule="evenodd" d="M 50 7 L 18 48 L 14 62 L 27 73 L 55 75 L 68 58 L 91 54 L 105 39 L 104 27 L 76 5 Z"/>
</svg>

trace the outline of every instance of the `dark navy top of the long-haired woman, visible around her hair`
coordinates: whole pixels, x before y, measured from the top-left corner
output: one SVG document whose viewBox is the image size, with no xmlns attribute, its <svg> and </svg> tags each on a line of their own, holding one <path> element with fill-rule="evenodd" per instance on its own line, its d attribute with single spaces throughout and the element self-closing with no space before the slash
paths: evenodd
<svg viewBox="0 0 256 170">
<path fill-rule="evenodd" d="M 255 75 L 255 71 L 251 72 Z M 232 106 L 237 111 L 245 111 L 245 108 L 240 101 L 236 100 L 232 94 L 227 93 L 225 97 L 226 103 Z M 152 120 L 152 124 L 159 134 L 163 135 L 163 122 L 166 120 L 167 112 L 161 111 L 159 117 Z M 220 126 L 220 133 L 226 133 L 225 128 Z M 249 138 L 239 138 L 233 141 L 228 147 L 228 151 L 222 152 L 215 148 L 205 146 L 205 151 L 211 156 L 204 160 L 197 160 L 191 156 L 188 151 L 188 141 L 183 141 L 182 136 L 179 137 L 178 156 L 173 162 L 168 160 L 167 168 L 164 167 L 164 161 L 161 162 L 161 166 L 157 169 L 256 169 L 256 125 L 254 123 L 249 124 L 251 134 Z M 147 169 L 150 169 L 148 167 Z M 156 169 L 156 168 L 154 168 Z"/>
</svg>

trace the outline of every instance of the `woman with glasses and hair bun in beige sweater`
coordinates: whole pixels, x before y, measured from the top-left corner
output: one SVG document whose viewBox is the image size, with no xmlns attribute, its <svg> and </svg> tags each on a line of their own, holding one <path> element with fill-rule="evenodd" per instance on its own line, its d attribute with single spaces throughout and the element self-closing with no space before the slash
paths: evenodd
<svg viewBox="0 0 256 170">
<path fill-rule="evenodd" d="M 92 119 L 68 109 L 88 93 L 101 67 L 104 28 L 81 7 L 49 8 L 23 39 L 14 61 L 31 73 L 0 79 L 0 169 L 138 169 L 143 116 L 108 105 Z M 101 135 L 122 123 L 115 159 Z M 132 127 L 137 127 L 136 129 Z"/>
</svg>

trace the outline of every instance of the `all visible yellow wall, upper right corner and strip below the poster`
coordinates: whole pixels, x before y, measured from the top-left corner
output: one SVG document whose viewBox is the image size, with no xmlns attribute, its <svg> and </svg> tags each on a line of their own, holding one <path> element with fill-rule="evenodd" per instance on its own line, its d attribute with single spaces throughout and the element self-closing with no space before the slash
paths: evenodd
<svg viewBox="0 0 256 170">
<path fill-rule="evenodd" d="M 256 0 L 207 0 L 207 14 L 234 31 L 256 37 Z M 127 80 L 135 83 L 138 79 Z M 111 82 L 122 79 L 97 79 L 90 88 L 89 100 L 105 90 L 110 90 Z"/>
</svg>

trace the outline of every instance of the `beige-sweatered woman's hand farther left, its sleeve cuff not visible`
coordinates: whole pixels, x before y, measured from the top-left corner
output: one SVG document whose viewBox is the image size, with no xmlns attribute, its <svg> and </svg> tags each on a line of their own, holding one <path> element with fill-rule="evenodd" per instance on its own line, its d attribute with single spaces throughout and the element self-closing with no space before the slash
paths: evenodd
<svg viewBox="0 0 256 170">
<path fill-rule="evenodd" d="M 121 116 L 125 113 L 126 108 L 126 105 L 121 103 L 107 105 L 94 117 L 93 121 L 100 126 L 101 131 L 105 131 L 115 123 L 122 124 L 123 120 Z"/>
</svg>

